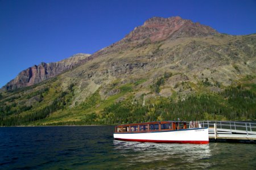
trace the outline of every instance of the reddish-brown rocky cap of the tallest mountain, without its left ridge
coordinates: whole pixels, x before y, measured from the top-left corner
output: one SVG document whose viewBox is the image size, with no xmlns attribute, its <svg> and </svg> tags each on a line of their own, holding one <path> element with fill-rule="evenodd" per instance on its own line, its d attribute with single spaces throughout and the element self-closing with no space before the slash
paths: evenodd
<svg viewBox="0 0 256 170">
<path fill-rule="evenodd" d="M 164 39 L 190 36 L 209 36 L 217 31 L 200 23 L 193 23 L 191 20 L 182 19 L 180 16 L 170 18 L 153 17 L 143 25 L 135 27 L 124 40 L 143 41 L 150 39 L 152 42 Z"/>
</svg>

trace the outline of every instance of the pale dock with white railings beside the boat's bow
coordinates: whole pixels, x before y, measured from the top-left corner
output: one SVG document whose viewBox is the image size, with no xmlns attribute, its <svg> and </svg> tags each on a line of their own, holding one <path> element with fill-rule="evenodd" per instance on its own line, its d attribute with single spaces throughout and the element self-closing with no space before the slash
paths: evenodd
<svg viewBox="0 0 256 170">
<path fill-rule="evenodd" d="M 210 142 L 256 143 L 256 123 L 236 121 L 200 121 L 189 126 L 209 128 Z"/>
</svg>

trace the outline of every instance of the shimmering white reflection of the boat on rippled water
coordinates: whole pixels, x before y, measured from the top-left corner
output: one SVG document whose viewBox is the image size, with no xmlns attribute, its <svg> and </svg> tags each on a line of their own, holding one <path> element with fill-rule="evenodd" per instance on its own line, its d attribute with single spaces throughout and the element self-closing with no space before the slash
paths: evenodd
<svg viewBox="0 0 256 170">
<path fill-rule="evenodd" d="M 115 151 L 128 160 L 125 164 L 126 167 L 134 165 L 139 169 L 136 166 L 140 164 L 151 169 L 175 169 L 177 164 L 183 164 L 184 168 L 191 166 L 207 168 L 210 166 L 209 163 L 201 162 L 211 156 L 209 145 L 126 141 L 113 141 L 113 145 Z"/>
</svg>

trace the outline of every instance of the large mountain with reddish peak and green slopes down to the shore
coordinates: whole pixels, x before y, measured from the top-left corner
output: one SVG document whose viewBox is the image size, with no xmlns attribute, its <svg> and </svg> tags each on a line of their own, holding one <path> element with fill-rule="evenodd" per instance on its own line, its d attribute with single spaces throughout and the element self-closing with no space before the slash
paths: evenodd
<svg viewBox="0 0 256 170">
<path fill-rule="evenodd" d="M 154 17 L 83 64 L 0 95 L 0 123 L 255 120 L 256 35 Z"/>
</svg>

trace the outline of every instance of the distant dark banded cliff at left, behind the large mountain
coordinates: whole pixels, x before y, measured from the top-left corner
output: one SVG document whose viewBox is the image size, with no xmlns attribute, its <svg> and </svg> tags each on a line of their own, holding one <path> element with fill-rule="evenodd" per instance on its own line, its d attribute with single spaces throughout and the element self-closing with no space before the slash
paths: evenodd
<svg viewBox="0 0 256 170">
<path fill-rule="evenodd" d="M 36 83 L 42 82 L 43 80 L 63 73 L 63 71 L 85 63 L 88 61 L 89 56 L 90 54 L 80 53 L 59 62 L 42 62 L 40 65 L 28 67 L 28 69 L 21 71 L 15 79 L 11 80 L 3 88 L 5 90 L 15 90 L 20 87 L 32 86 Z"/>
</svg>

